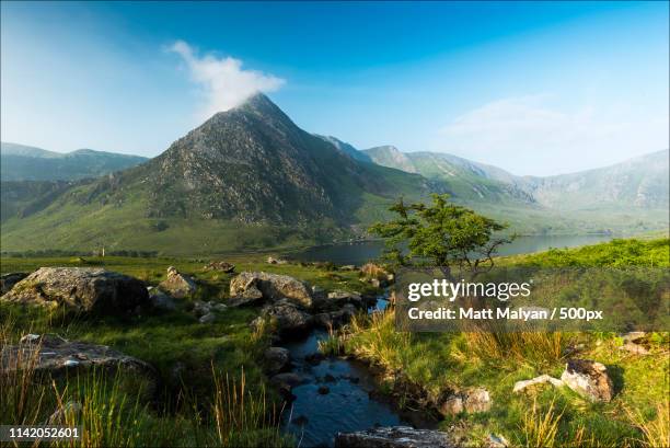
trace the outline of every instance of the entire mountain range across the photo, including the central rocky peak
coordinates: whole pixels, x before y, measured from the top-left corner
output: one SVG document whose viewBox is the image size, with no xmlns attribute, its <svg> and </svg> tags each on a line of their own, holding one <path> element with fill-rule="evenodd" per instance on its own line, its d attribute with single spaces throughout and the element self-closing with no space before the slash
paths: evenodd
<svg viewBox="0 0 670 448">
<path fill-rule="evenodd" d="M 668 156 L 515 176 L 444 153 L 359 151 L 300 129 L 257 94 L 148 161 L 3 143 L 1 244 L 194 254 L 323 243 L 365 236 L 397 197 L 427 200 L 431 192 L 522 233 L 643 232 L 668 227 Z M 5 175 L 5 157 L 26 159 L 25 171 Z M 51 165 L 59 174 L 38 182 L 41 163 L 55 161 L 77 169 Z"/>
</svg>

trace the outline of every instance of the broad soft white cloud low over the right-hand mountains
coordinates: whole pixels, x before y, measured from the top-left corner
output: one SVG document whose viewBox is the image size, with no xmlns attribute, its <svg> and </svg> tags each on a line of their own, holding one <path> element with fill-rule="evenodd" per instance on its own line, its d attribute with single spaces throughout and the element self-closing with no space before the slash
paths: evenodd
<svg viewBox="0 0 670 448">
<path fill-rule="evenodd" d="M 437 147 L 517 174 L 557 174 L 668 147 L 667 112 L 631 104 L 573 110 L 546 94 L 498 100 L 439 131 Z"/>
</svg>

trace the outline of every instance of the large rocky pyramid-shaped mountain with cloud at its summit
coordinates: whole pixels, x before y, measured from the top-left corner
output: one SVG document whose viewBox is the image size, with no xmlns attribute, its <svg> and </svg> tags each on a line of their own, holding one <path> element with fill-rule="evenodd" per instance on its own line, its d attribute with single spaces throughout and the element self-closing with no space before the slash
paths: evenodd
<svg viewBox="0 0 670 448">
<path fill-rule="evenodd" d="M 2 250 L 195 253 L 327 242 L 361 234 L 398 196 L 431 189 L 417 174 L 343 153 L 257 94 L 146 163 L 3 216 Z"/>
</svg>

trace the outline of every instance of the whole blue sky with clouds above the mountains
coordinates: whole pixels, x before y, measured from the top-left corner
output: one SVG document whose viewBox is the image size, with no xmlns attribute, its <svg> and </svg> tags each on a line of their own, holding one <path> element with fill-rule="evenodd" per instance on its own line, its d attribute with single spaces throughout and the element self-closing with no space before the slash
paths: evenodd
<svg viewBox="0 0 670 448">
<path fill-rule="evenodd" d="M 3 141 L 155 156 L 259 89 L 305 130 L 516 174 L 668 147 L 668 2 L 0 8 Z"/>
</svg>

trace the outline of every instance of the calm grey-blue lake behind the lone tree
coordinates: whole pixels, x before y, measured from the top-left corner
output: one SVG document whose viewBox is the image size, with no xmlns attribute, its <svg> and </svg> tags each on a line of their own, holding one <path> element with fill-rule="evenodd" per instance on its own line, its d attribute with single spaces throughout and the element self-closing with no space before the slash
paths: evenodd
<svg viewBox="0 0 670 448">
<path fill-rule="evenodd" d="M 519 237 L 511 244 L 500 248 L 498 254 L 515 255 L 546 251 L 551 248 L 576 248 L 610 241 L 612 238 L 609 234 Z M 382 241 L 361 241 L 313 246 L 291 253 L 288 257 L 302 262 L 330 261 L 335 264 L 361 265 L 379 257 L 383 249 Z"/>
</svg>

